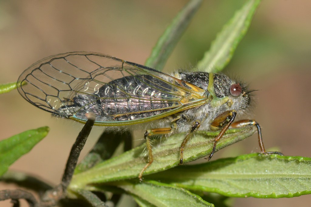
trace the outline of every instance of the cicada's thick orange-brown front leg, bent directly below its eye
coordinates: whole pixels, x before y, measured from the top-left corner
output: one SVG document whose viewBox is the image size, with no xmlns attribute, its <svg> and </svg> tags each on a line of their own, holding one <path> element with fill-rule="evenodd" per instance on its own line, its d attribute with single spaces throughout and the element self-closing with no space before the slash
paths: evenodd
<svg viewBox="0 0 311 207">
<path fill-rule="evenodd" d="M 221 128 L 221 131 L 217 135 L 217 137 L 215 137 L 215 139 L 214 139 L 213 150 L 212 150 L 210 156 L 208 156 L 208 158 L 207 158 L 208 160 L 210 160 L 211 157 L 213 156 L 215 149 L 216 149 L 217 142 L 220 140 L 220 138 L 225 134 L 227 129 L 233 123 L 236 115 L 237 115 L 236 110 L 225 111 L 225 112 L 221 113 L 220 115 L 218 115 L 213 120 L 213 122 L 211 123 L 211 129 L 212 130 L 218 130 Z"/>
</svg>

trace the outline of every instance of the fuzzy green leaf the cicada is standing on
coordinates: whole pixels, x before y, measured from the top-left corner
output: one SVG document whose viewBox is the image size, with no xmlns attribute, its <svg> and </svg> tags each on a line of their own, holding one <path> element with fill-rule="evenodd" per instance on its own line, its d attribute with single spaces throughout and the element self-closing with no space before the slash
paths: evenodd
<svg viewBox="0 0 311 207">
<path fill-rule="evenodd" d="M 216 151 L 239 142 L 250 135 L 256 129 L 253 126 L 229 129 L 227 133 L 217 142 Z M 184 150 L 184 162 L 197 160 L 209 155 L 212 151 L 214 137 L 218 132 L 200 133 L 190 139 Z M 175 167 L 179 164 L 179 148 L 184 134 L 176 134 L 163 138 L 160 146 L 153 148 L 153 163 L 146 169 L 144 175 L 156 173 Z M 93 168 L 73 176 L 69 188 L 83 188 L 91 183 L 103 183 L 121 179 L 137 178 L 142 168 L 146 165 L 148 157 L 143 153 L 145 144 L 127 151 L 117 157 L 104 161 Z M 146 151 L 145 151 L 146 152 Z"/>
</svg>

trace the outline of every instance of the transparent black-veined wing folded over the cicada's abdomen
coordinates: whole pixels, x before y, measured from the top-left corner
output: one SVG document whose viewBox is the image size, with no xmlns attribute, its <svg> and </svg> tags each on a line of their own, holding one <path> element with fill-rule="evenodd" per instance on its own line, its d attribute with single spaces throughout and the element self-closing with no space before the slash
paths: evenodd
<svg viewBox="0 0 311 207">
<path fill-rule="evenodd" d="M 128 125 L 197 106 L 205 91 L 143 65 L 99 53 L 50 56 L 19 77 L 20 94 L 33 105 L 80 122 Z"/>
</svg>

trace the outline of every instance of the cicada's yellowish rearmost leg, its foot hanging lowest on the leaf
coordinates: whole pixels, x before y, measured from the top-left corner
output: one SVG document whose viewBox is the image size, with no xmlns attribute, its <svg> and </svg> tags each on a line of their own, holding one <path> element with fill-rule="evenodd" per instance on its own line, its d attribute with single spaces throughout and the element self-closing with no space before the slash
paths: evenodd
<svg viewBox="0 0 311 207">
<path fill-rule="evenodd" d="M 148 150 L 148 163 L 145 165 L 145 167 L 142 169 L 142 171 L 139 173 L 138 178 L 140 181 L 142 181 L 142 174 L 145 172 L 145 170 L 151 165 L 153 162 L 153 156 L 152 156 L 152 147 L 150 144 L 149 137 L 156 134 L 168 134 L 172 131 L 171 127 L 167 128 L 155 128 L 155 129 L 149 129 L 145 132 L 145 140 L 146 140 L 146 147 Z"/>
</svg>

